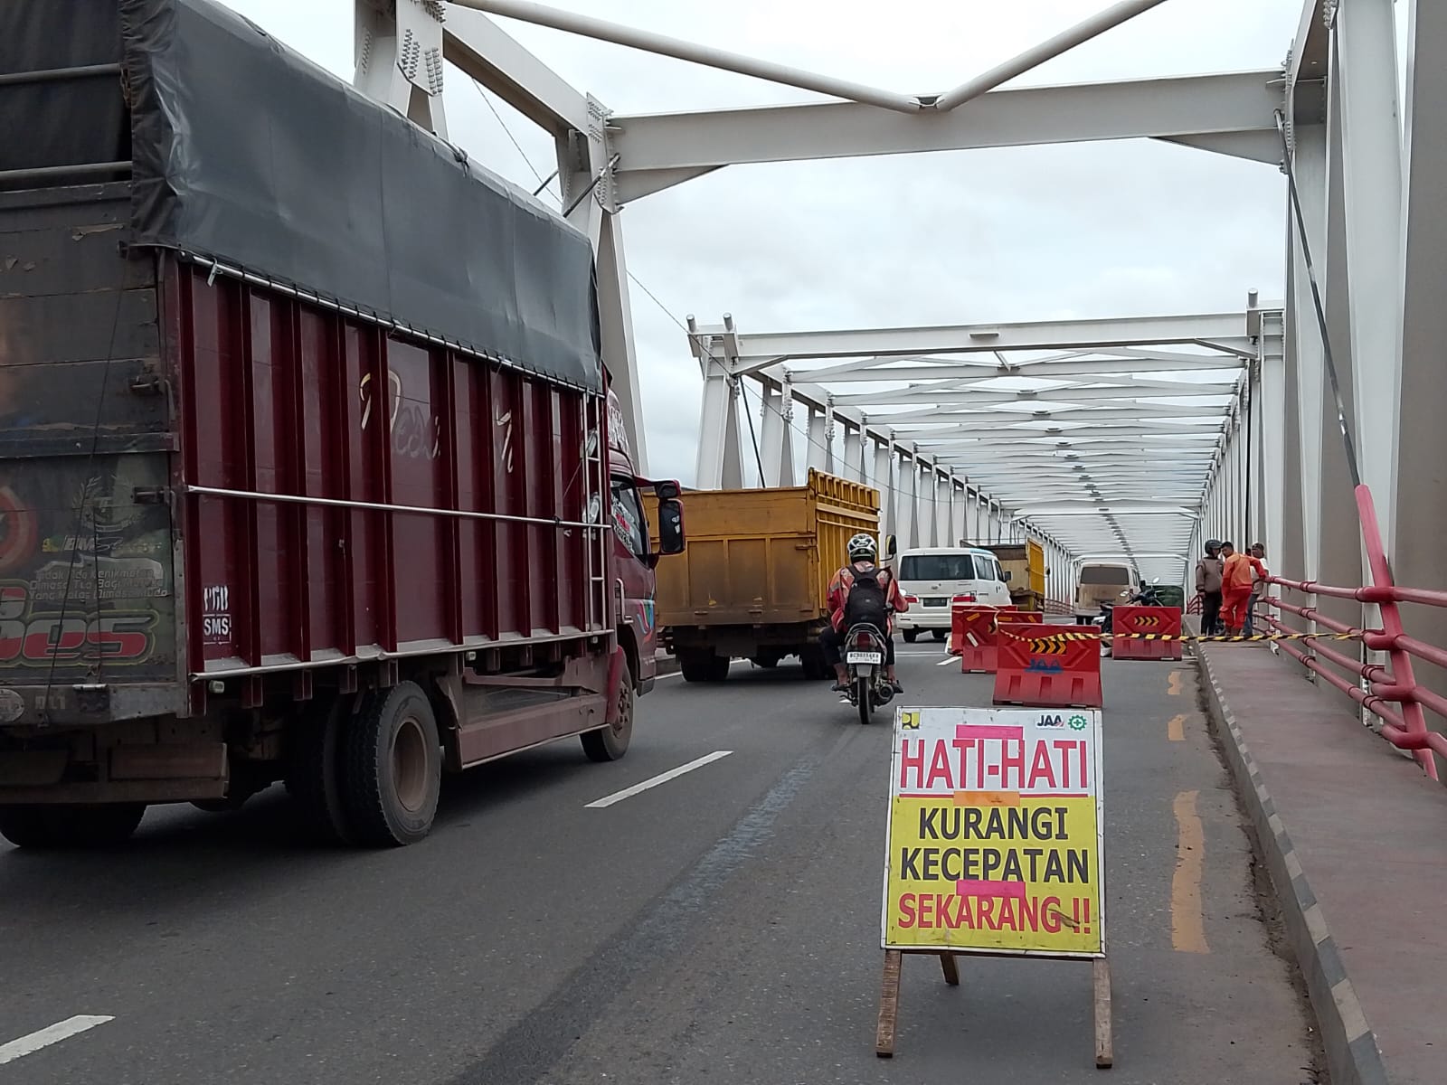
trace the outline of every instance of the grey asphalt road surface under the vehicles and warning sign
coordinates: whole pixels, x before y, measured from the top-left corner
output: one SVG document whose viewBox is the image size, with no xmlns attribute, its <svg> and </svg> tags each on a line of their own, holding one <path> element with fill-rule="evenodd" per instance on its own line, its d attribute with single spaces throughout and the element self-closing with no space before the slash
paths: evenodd
<svg viewBox="0 0 1447 1085">
<path fill-rule="evenodd" d="M 936 665 L 938 645 L 900 652 L 907 703 L 988 703 L 990 680 Z M 948 988 L 906 958 L 897 1055 L 874 1056 L 890 728 L 748 664 L 722 687 L 660 680 L 619 762 L 566 742 L 463 777 L 401 851 L 298 846 L 279 790 L 233 814 L 152 810 L 106 855 L 0 845 L 0 1044 L 113 1017 L 0 1076 L 1315 1081 L 1189 665 L 1107 661 L 1106 697 L 1108 1076 L 1078 962 L 965 958 Z"/>
</svg>

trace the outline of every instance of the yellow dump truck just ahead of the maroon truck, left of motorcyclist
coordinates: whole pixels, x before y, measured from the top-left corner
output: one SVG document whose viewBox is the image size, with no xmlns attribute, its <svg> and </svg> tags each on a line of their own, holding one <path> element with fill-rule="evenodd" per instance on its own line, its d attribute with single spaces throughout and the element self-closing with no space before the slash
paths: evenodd
<svg viewBox="0 0 1447 1085">
<path fill-rule="evenodd" d="M 829 582 L 851 535 L 878 537 L 878 490 L 810 470 L 803 486 L 690 490 L 686 516 L 687 548 L 657 570 L 660 641 L 684 680 L 792 655 L 805 677 L 831 677 L 818 645 Z"/>
</svg>

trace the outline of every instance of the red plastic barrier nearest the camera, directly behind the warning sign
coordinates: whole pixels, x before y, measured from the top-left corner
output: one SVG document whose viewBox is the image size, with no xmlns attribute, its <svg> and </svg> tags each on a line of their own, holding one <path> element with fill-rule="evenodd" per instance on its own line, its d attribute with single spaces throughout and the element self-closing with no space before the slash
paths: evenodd
<svg viewBox="0 0 1447 1085">
<path fill-rule="evenodd" d="M 1075 634 L 1081 639 L 1048 639 Z M 996 705 L 1042 709 L 1104 707 L 1100 687 L 1100 629 L 1094 625 L 1003 622 Z"/>
</svg>

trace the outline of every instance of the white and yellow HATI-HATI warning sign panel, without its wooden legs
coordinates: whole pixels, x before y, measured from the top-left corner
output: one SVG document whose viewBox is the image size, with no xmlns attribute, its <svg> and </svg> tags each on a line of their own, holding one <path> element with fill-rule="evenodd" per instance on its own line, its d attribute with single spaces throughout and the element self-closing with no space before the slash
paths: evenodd
<svg viewBox="0 0 1447 1085">
<path fill-rule="evenodd" d="M 1106 952 L 1100 712 L 901 707 L 884 949 Z"/>
</svg>

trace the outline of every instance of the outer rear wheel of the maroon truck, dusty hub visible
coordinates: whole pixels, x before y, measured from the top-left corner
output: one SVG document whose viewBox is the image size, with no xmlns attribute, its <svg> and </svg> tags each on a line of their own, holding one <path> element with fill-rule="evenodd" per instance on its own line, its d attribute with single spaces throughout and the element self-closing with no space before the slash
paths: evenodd
<svg viewBox="0 0 1447 1085">
<path fill-rule="evenodd" d="M 341 746 L 341 797 L 357 842 L 421 841 L 433 827 L 441 780 L 437 718 L 421 687 L 402 681 L 369 697 Z"/>
</svg>

